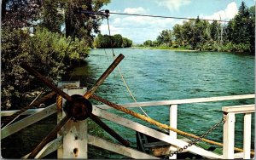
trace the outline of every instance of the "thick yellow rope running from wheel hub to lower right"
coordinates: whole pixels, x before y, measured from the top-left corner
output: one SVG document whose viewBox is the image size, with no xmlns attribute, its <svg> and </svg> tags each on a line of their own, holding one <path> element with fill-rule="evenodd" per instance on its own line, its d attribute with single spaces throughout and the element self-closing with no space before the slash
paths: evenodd
<svg viewBox="0 0 256 160">
<path fill-rule="evenodd" d="M 108 105 L 108 106 L 111 106 L 111 107 L 113 107 L 113 108 L 115 108 L 115 109 L 117 109 L 117 110 L 119 110 L 119 111 L 123 111 L 123 112 L 125 112 L 125 113 L 127 113 L 127 114 L 129 114 L 129 115 L 131 115 L 131 116 L 133 116 L 133 117 L 137 117 L 137 118 L 139 118 L 139 119 L 141 119 L 141 120 L 143 120 L 143 121 L 145 121 L 145 122 L 147 122 L 147 123 L 151 123 L 151 124 L 153 124 L 153 125 L 155 125 L 155 126 L 157 126 L 157 127 L 160 127 L 160 128 L 162 128 L 162 129 L 169 129 L 169 130 L 171 130 L 172 132 L 175 132 L 175 133 L 177 133 L 177 134 L 181 134 L 181 135 L 184 135 L 184 136 L 187 136 L 187 137 L 191 137 L 191 138 L 194 138 L 194 139 L 200 138 L 199 136 L 197 136 L 197 135 L 195 135 L 195 134 L 189 134 L 189 133 L 186 133 L 186 132 L 184 132 L 184 131 L 182 131 L 182 130 L 174 129 L 174 128 L 172 128 L 172 127 L 166 125 L 166 124 L 159 123 L 159 122 L 155 121 L 154 119 L 152 119 L 152 118 L 150 118 L 150 117 L 145 117 L 145 116 L 143 116 L 143 115 L 141 115 L 141 114 L 139 114 L 139 113 L 137 113 L 137 112 L 135 112 L 135 111 L 128 110 L 128 109 L 125 108 L 124 106 L 119 106 L 119 105 L 116 105 L 116 104 L 114 104 L 114 103 L 112 103 L 112 102 L 110 102 L 110 101 L 108 101 L 108 100 L 104 100 L 104 99 L 102 99 L 102 98 L 96 96 L 95 94 L 92 94 L 92 95 L 91 95 L 91 98 L 93 98 L 93 99 L 95 99 L 95 100 L 98 100 L 98 101 L 101 101 L 102 103 L 104 103 L 104 104 L 106 104 L 106 105 Z M 219 142 L 216 142 L 216 141 L 213 141 L 213 140 L 207 140 L 207 139 L 204 139 L 204 138 L 202 138 L 201 140 L 202 140 L 202 141 L 205 141 L 205 142 L 207 142 L 207 143 L 210 143 L 210 144 L 212 144 L 212 145 L 224 146 L 222 143 L 219 143 Z M 235 150 L 235 151 L 241 151 L 241 152 L 243 151 L 241 148 L 237 148 L 237 147 L 234 147 L 234 150 Z M 251 151 L 251 154 L 254 155 L 254 151 Z"/>
</svg>

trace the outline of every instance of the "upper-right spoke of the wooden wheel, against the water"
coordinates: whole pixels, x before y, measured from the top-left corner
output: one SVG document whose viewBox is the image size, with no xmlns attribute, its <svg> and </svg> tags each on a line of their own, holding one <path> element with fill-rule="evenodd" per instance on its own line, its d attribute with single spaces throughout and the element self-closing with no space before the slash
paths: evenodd
<svg viewBox="0 0 256 160">
<path fill-rule="evenodd" d="M 103 83 L 103 81 L 108 77 L 108 75 L 113 71 L 113 69 L 119 65 L 120 61 L 123 60 L 125 56 L 123 54 L 119 54 L 119 56 L 113 60 L 113 63 L 108 66 L 108 69 L 103 72 L 102 76 L 96 81 L 93 87 L 84 94 L 85 99 L 89 99 L 91 94 L 94 94 L 96 89 Z"/>
</svg>

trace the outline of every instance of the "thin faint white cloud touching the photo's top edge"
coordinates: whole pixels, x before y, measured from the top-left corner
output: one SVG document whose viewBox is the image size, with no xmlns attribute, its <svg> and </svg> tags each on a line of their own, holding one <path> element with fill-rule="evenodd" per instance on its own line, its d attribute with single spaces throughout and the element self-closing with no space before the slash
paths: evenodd
<svg viewBox="0 0 256 160">
<path fill-rule="evenodd" d="M 156 1 L 156 3 L 158 3 L 159 6 L 168 8 L 170 11 L 177 11 L 182 6 L 189 5 L 191 0 L 160 0 Z"/>
</svg>

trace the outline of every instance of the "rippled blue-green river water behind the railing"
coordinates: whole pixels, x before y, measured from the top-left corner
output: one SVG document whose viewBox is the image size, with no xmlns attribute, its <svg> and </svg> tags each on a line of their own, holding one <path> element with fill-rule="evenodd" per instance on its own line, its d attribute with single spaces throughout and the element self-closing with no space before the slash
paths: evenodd
<svg viewBox="0 0 256 160">
<path fill-rule="evenodd" d="M 157 100 L 177 100 L 254 93 L 254 56 L 218 52 L 187 52 L 157 49 L 113 49 L 114 54 L 124 54 L 119 68 L 138 102 Z M 91 49 L 86 64 L 75 68 L 65 80 L 80 80 L 82 86 L 90 89 L 113 61 L 111 49 Z M 115 103 L 133 102 L 122 82 L 117 69 L 102 83 L 96 94 Z M 223 113 L 222 106 L 252 104 L 254 100 L 230 100 L 225 102 L 195 103 L 178 106 L 177 129 L 201 135 L 218 123 Z M 94 104 L 100 104 L 93 101 Z M 131 110 L 142 113 L 138 108 Z M 160 123 L 169 123 L 168 106 L 143 107 L 149 117 Z M 148 123 L 120 111 L 108 110 L 132 121 Z M 49 123 L 54 122 L 54 123 Z M 135 131 L 115 123 L 104 121 L 136 147 Z M 22 129 L 19 133 L 2 140 L 3 157 L 20 157 L 32 151 L 55 125 L 55 116 Z M 236 146 L 242 146 L 242 117 L 236 116 Z M 223 127 L 220 126 L 207 139 L 222 142 Z M 252 129 L 254 146 L 254 117 Z M 94 134 L 94 129 L 90 130 Z M 100 132 L 112 140 L 108 134 Z M 21 145 L 22 144 L 22 145 Z M 91 147 L 89 147 L 91 148 Z M 91 150 L 90 150 L 91 151 Z M 16 154 L 14 154 L 14 152 Z M 97 152 L 97 151 L 94 151 Z M 102 152 L 102 153 L 100 153 Z M 106 152 L 100 151 L 90 158 L 101 158 Z M 110 153 L 107 158 L 117 158 Z M 55 157 L 55 155 L 51 156 Z M 120 157 L 118 157 L 120 158 Z"/>
</svg>

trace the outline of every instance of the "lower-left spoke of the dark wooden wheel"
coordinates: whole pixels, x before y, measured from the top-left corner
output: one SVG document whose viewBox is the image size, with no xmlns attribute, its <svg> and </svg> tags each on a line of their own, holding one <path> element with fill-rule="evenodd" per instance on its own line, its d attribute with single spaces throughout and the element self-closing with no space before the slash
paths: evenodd
<svg viewBox="0 0 256 160">
<path fill-rule="evenodd" d="M 42 140 L 39 145 L 31 152 L 31 154 L 27 158 L 34 158 L 37 156 L 38 152 L 41 151 L 44 146 L 49 143 L 50 140 L 55 138 L 55 135 L 61 130 L 61 128 L 68 122 L 70 117 L 64 117 L 60 123 L 58 123 L 54 129 L 50 131 L 50 133 Z"/>
</svg>

